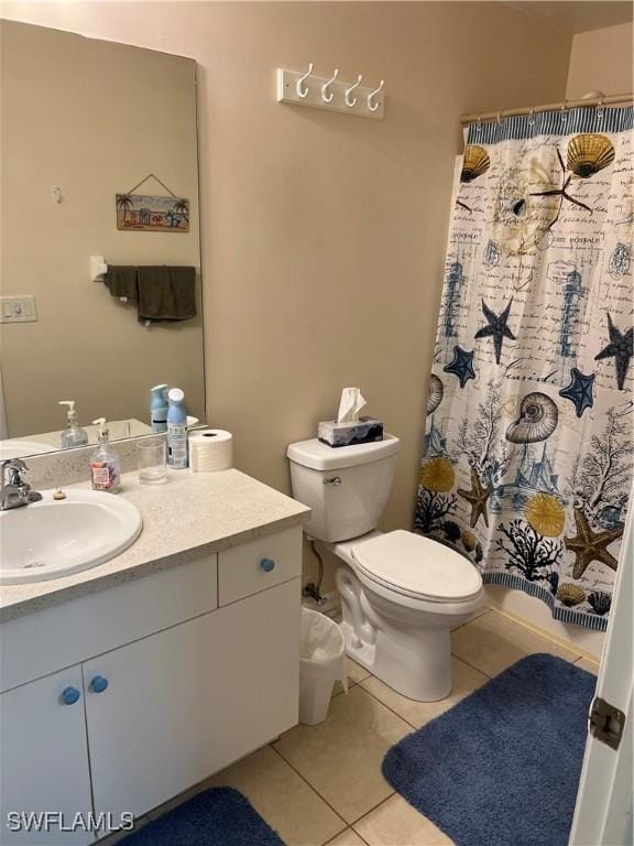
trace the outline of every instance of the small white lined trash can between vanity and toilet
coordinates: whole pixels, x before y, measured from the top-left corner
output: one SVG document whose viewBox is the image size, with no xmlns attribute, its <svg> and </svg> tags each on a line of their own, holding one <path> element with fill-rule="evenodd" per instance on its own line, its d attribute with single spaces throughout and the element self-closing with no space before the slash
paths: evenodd
<svg viewBox="0 0 634 846">
<path fill-rule="evenodd" d="M 326 615 L 302 608 L 299 723 L 316 726 L 326 719 L 332 686 L 338 680 L 347 692 L 343 632 Z"/>
</svg>

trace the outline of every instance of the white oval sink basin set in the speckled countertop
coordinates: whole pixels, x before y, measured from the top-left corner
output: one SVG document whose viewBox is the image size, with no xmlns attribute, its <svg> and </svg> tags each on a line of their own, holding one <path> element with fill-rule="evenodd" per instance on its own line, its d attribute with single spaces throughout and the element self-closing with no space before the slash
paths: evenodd
<svg viewBox="0 0 634 846">
<path fill-rule="evenodd" d="M 0 512 L 0 585 L 43 582 L 113 558 L 141 533 L 136 506 L 112 494 L 69 490 L 55 501 Z"/>
</svg>

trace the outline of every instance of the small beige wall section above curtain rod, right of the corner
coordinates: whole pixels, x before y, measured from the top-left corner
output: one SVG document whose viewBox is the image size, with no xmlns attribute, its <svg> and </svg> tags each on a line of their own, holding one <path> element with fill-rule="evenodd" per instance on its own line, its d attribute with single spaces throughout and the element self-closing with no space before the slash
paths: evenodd
<svg viewBox="0 0 634 846">
<path fill-rule="evenodd" d="M 623 94 L 633 85 L 631 23 L 580 32 L 572 40 L 566 97 L 570 100 L 589 91 Z"/>
</svg>

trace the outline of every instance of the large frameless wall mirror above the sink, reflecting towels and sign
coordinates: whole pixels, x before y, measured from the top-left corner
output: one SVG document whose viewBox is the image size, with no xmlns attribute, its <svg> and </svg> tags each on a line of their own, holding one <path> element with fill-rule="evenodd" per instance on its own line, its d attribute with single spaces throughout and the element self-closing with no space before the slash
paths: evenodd
<svg viewBox="0 0 634 846">
<path fill-rule="evenodd" d="M 149 434 L 157 384 L 203 422 L 195 62 L 0 33 L 0 458 L 61 448 L 64 400 L 90 443 Z"/>
</svg>

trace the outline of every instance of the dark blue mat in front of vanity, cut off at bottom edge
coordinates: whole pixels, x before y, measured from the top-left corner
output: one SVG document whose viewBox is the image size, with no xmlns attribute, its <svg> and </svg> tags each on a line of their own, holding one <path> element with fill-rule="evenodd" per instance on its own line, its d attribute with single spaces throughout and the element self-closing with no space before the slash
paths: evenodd
<svg viewBox="0 0 634 846">
<path fill-rule="evenodd" d="M 212 788 L 119 842 L 120 846 L 284 846 L 248 799 Z"/>
</svg>

